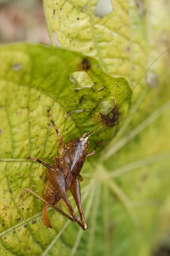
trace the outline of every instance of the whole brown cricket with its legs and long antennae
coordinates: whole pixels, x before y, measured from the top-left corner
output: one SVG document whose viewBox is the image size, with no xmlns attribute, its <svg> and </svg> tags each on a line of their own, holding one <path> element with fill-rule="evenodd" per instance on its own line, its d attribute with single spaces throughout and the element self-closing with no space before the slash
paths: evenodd
<svg viewBox="0 0 170 256">
<path fill-rule="evenodd" d="M 167 51 L 165 51 L 165 52 L 167 52 Z M 164 54 L 164 52 L 162 54 Z M 161 55 L 159 55 L 159 57 Z M 156 58 L 156 60 L 158 58 Z M 152 65 L 150 65 L 150 67 Z M 147 69 L 147 71 L 150 69 L 150 67 Z M 147 71 L 144 73 L 144 75 L 147 73 Z M 142 78 L 143 78 L 143 76 L 142 76 Z M 139 82 L 141 81 L 141 79 L 139 80 Z M 139 84 L 139 82 L 137 84 Z M 135 85 L 135 87 L 137 86 L 137 84 Z M 135 89 L 135 87 L 133 87 L 132 91 Z M 119 107 L 116 108 L 116 110 L 115 110 L 115 112 L 113 112 L 113 114 L 119 110 L 120 106 L 122 106 L 122 104 L 125 102 L 127 97 L 130 96 L 131 92 L 125 97 L 125 99 L 123 100 L 121 105 L 119 105 Z M 59 137 L 58 150 L 61 155 L 55 156 L 54 163 L 52 163 L 52 164 L 44 163 L 36 157 L 28 156 L 26 158 L 26 159 L 35 160 L 38 163 L 41 163 L 43 166 L 45 166 L 47 168 L 48 180 L 45 185 L 45 191 L 44 191 L 45 198 L 42 198 L 41 196 L 37 195 L 37 193 L 35 193 L 33 190 L 26 188 L 20 194 L 20 198 L 21 198 L 20 202 L 22 201 L 24 193 L 26 191 L 30 192 L 31 194 L 35 195 L 37 198 L 39 198 L 41 201 L 44 202 L 44 206 L 42 209 L 42 218 L 47 227 L 51 228 L 51 224 L 48 219 L 48 211 L 47 211 L 48 206 L 50 206 L 53 209 L 55 209 L 57 212 L 59 212 L 60 214 L 62 214 L 66 218 L 68 218 L 69 220 L 77 222 L 77 224 L 79 224 L 79 226 L 83 230 L 86 230 L 88 228 L 88 225 L 87 225 L 85 216 L 82 211 L 81 196 L 80 196 L 79 181 L 83 181 L 83 178 L 80 175 L 80 171 L 82 169 L 82 166 L 85 162 L 86 157 L 90 157 L 93 154 L 95 154 L 96 147 L 99 144 L 99 142 L 97 142 L 94 147 L 94 150 L 92 152 L 88 153 L 89 137 L 92 134 L 94 134 L 110 125 L 113 125 L 113 123 L 116 123 L 118 121 L 115 121 L 109 125 L 106 125 L 105 127 L 100 128 L 99 130 L 97 130 L 99 127 L 104 125 L 108 121 L 108 119 L 110 119 L 110 117 L 108 117 L 108 119 L 106 119 L 105 122 L 103 122 L 101 125 L 99 125 L 94 130 L 83 134 L 82 137 L 79 137 L 79 138 L 73 139 L 73 140 L 69 140 L 63 146 L 62 137 L 54 123 L 54 120 L 52 119 L 52 117 L 50 115 L 50 108 L 47 110 L 47 113 L 48 113 L 48 117 L 51 120 L 51 122 L 57 132 L 57 135 Z M 127 118 L 127 117 L 125 117 L 125 118 Z M 123 118 L 123 119 L 125 119 L 125 118 Z M 119 121 L 121 121 L 121 120 L 119 120 Z M 77 204 L 77 208 L 79 210 L 79 216 L 80 216 L 81 221 L 79 221 L 79 217 L 76 214 L 76 212 L 74 211 L 74 209 L 72 208 L 70 201 L 67 197 L 66 192 L 68 190 L 71 191 L 71 194 L 73 195 L 74 200 Z M 71 216 L 66 214 L 65 212 L 63 212 L 61 209 L 55 207 L 55 204 L 58 204 L 60 201 L 62 201 L 64 203 L 65 208 L 68 210 L 68 212 Z"/>
</svg>

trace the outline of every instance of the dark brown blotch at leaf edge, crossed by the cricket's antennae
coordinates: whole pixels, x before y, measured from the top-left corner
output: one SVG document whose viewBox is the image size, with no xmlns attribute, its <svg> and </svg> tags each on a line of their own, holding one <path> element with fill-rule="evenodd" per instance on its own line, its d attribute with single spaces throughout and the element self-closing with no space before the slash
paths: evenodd
<svg viewBox="0 0 170 256">
<path fill-rule="evenodd" d="M 108 117 L 110 117 L 110 118 L 108 119 Z M 107 119 L 108 119 L 108 121 L 105 122 Z M 105 122 L 106 126 L 110 125 L 109 127 L 113 127 L 113 126 L 117 125 L 117 123 L 119 121 L 118 107 L 115 105 L 114 108 L 112 109 L 112 111 L 108 115 L 103 115 L 102 113 L 100 113 L 100 120 L 102 123 Z"/>
</svg>

